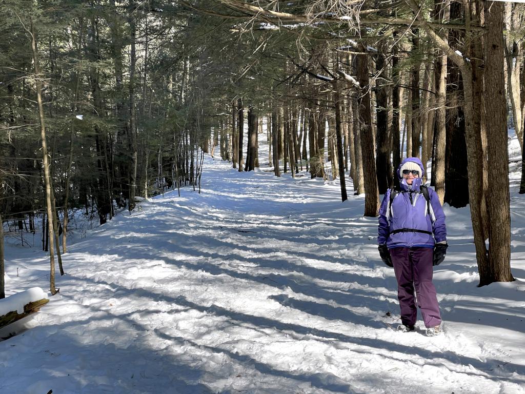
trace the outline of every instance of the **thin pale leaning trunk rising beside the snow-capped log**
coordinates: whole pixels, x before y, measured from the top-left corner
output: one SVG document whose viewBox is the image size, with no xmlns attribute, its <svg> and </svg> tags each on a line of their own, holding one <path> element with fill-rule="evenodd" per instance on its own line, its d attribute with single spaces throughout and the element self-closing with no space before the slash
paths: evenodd
<svg viewBox="0 0 525 394">
<path fill-rule="evenodd" d="M 38 49 L 36 44 L 36 30 L 33 25 L 33 19 L 31 19 L 31 49 L 33 50 L 33 66 L 35 68 L 35 79 L 36 79 L 36 95 L 38 103 L 38 117 L 40 120 L 40 139 L 42 143 L 42 157 L 44 161 L 44 185 L 46 189 L 46 207 L 47 217 L 50 218 L 50 226 L 48 226 L 49 236 L 49 261 L 50 261 L 50 272 L 49 272 L 49 291 L 51 295 L 57 294 L 55 287 L 55 234 L 53 231 L 53 205 L 51 205 L 51 174 L 49 171 L 49 158 L 47 152 L 47 141 L 46 141 L 46 123 L 44 119 L 44 106 L 42 105 L 42 82 L 40 76 L 40 67 L 38 64 Z"/>
</svg>

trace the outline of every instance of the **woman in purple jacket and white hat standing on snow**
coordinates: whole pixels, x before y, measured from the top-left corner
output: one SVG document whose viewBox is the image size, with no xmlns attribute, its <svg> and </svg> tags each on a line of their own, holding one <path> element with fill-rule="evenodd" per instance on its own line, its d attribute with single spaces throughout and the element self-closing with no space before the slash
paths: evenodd
<svg viewBox="0 0 525 394">
<path fill-rule="evenodd" d="M 428 336 L 439 335 L 441 315 L 432 283 L 433 265 L 440 264 L 447 250 L 445 214 L 437 194 L 422 184 L 423 164 L 406 158 L 397 169 L 400 188 L 385 193 L 379 211 L 379 253 L 394 267 L 403 332 L 413 331 L 417 306 Z M 415 295 L 414 295 L 415 293 Z"/>
</svg>

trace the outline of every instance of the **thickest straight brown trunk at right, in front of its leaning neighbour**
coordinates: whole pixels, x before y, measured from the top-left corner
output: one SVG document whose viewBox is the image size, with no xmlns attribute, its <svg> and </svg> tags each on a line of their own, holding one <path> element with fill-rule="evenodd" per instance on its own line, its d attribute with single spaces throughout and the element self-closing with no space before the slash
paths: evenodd
<svg viewBox="0 0 525 394">
<path fill-rule="evenodd" d="M 507 105 L 503 75 L 503 7 L 500 2 L 485 2 L 485 100 L 488 134 L 489 252 L 488 264 L 479 266 L 479 285 L 510 282 L 510 195 L 507 148 Z M 503 174 L 503 176 L 502 176 Z"/>
</svg>

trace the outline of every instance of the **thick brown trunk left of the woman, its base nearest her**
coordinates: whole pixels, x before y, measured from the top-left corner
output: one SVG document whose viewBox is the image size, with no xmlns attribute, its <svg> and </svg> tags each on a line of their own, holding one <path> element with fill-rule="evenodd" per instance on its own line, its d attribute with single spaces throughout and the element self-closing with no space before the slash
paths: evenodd
<svg viewBox="0 0 525 394">
<path fill-rule="evenodd" d="M 360 52 L 366 52 L 366 48 L 364 48 L 362 44 L 360 45 Z M 358 100 L 363 172 L 375 174 L 374 138 L 372 135 L 372 109 L 370 103 L 370 80 L 367 55 L 357 55 L 355 63 L 359 86 L 361 87 Z M 364 216 L 375 217 L 379 213 L 377 177 L 371 176 L 364 179 L 364 192 Z"/>
</svg>

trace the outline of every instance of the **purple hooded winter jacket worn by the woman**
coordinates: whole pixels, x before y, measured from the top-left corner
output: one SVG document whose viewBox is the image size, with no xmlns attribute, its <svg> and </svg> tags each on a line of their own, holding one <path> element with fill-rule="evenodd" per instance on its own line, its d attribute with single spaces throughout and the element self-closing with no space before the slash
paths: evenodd
<svg viewBox="0 0 525 394">
<path fill-rule="evenodd" d="M 417 158 L 406 158 L 397 169 L 397 177 L 400 179 L 401 191 L 397 192 L 390 206 L 390 193 L 388 189 L 385 193 L 381 208 L 379 209 L 379 230 L 377 241 L 380 245 L 386 244 L 389 249 L 394 247 L 434 247 L 436 242 L 447 240 L 447 229 L 445 226 L 445 213 L 439 203 L 437 193 L 428 188 L 430 199 L 430 212 L 427 212 L 427 201 L 421 192 L 421 177 L 415 178 L 412 188 L 409 188 L 406 180 L 403 179 L 400 170 L 404 163 L 413 161 L 421 168 L 421 177 L 424 168 L 421 160 Z M 395 230 L 412 229 L 423 230 L 434 234 L 418 232 L 398 232 L 391 234 Z"/>
</svg>

